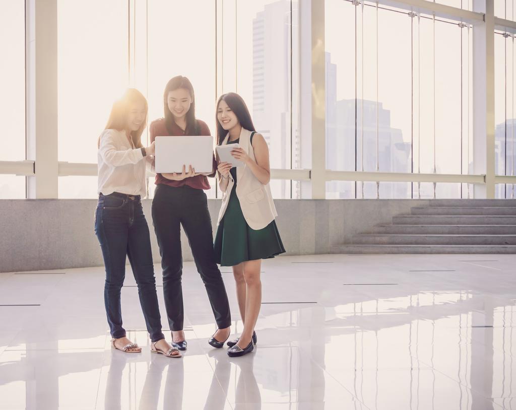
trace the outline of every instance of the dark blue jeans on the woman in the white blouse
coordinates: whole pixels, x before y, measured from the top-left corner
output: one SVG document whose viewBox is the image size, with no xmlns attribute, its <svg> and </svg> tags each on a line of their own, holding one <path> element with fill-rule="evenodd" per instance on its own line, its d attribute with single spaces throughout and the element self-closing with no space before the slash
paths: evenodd
<svg viewBox="0 0 516 410">
<path fill-rule="evenodd" d="M 99 195 L 95 211 L 95 235 L 99 239 L 106 267 L 104 302 L 111 337 L 125 337 L 120 309 L 120 291 L 125 278 L 125 257 L 129 258 L 138 285 L 143 317 L 153 342 L 164 339 L 156 294 L 149 226 L 140 196 L 114 192 Z"/>
</svg>

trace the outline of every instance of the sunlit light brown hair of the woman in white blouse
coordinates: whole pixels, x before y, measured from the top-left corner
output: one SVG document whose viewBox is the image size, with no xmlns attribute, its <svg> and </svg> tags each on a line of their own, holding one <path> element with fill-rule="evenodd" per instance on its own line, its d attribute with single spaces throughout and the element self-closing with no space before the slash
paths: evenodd
<svg viewBox="0 0 516 410">
<path fill-rule="evenodd" d="M 143 103 L 145 106 L 145 120 L 141 123 L 136 131 L 131 131 L 131 140 L 135 148 L 141 148 L 141 134 L 147 126 L 147 116 L 149 113 L 149 105 L 147 99 L 136 88 L 128 88 L 122 97 L 113 103 L 109 119 L 104 129 L 117 129 L 122 131 L 127 128 L 127 117 L 131 106 L 135 103 Z M 97 146 L 100 147 L 100 137 L 97 141 Z"/>
</svg>

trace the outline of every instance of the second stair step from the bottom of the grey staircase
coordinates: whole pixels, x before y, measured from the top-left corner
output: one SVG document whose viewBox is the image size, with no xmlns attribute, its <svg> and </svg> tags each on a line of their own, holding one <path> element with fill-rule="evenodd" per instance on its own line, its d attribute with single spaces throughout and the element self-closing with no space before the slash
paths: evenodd
<svg viewBox="0 0 516 410">
<path fill-rule="evenodd" d="M 351 244 L 372 245 L 516 245 L 516 235 L 353 235 Z"/>
</svg>

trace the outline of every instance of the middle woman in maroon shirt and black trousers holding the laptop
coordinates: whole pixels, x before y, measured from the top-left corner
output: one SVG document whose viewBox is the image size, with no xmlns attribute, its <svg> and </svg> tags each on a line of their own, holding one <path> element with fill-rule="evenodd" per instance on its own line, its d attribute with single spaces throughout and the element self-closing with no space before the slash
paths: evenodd
<svg viewBox="0 0 516 410">
<path fill-rule="evenodd" d="M 195 117 L 195 95 L 188 78 L 176 76 L 168 82 L 163 104 L 165 117 L 151 123 L 151 141 L 159 136 L 211 135 L 208 126 Z M 215 176 L 215 158 L 213 161 L 212 173 L 196 173 L 186 164 L 182 173 L 156 174 L 152 218 L 162 256 L 163 294 L 172 331 L 172 346 L 180 350 L 186 350 L 187 346 L 183 332 L 181 225 L 218 326 L 208 343 L 221 348 L 230 334 L 229 301 L 215 262 L 212 221 L 204 193 L 209 189 L 207 176 Z"/>
</svg>

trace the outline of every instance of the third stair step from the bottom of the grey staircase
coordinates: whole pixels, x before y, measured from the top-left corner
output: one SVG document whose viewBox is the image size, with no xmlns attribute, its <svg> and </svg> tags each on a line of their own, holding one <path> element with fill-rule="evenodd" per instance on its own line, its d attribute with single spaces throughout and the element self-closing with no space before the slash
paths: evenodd
<svg viewBox="0 0 516 410">
<path fill-rule="evenodd" d="M 372 234 L 516 235 L 516 225 L 377 225 Z"/>
</svg>

